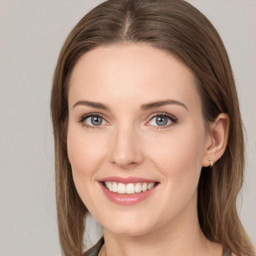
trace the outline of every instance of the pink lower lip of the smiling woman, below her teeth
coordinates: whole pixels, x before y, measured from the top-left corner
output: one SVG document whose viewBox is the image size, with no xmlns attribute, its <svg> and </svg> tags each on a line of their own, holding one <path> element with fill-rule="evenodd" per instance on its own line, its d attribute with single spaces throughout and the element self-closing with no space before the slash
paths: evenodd
<svg viewBox="0 0 256 256">
<path fill-rule="evenodd" d="M 104 187 L 102 182 L 99 182 L 99 183 L 100 183 L 100 186 L 101 186 L 105 196 L 110 201 L 112 201 L 116 204 L 121 204 L 121 205 L 136 204 L 136 203 L 139 203 L 139 202 L 145 200 L 147 197 L 149 197 L 155 191 L 155 188 L 158 186 L 158 184 L 156 184 L 151 189 L 146 190 L 144 192 L 140 192 L 140 193 L 117 194 L 117 193 L 109 191 L 106 187 Z"/>
</svg>

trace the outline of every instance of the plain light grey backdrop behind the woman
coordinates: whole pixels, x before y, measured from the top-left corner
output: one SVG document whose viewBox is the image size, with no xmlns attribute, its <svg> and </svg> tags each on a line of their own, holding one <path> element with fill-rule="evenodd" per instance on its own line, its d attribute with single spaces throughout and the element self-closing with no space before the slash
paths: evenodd
<svg viewBox="0 0 256 256">
<path fill-rule="evenodd" d="M 99 2 L 0 0 L 0 256 L 61 255 L 50 87 L 66 35 Z M 256 244 L 256 1 L 189 2 L 216 26 L 236 77 L 248 138 L 238 211 Z M 100 235 L 94 231 L 90 222 L 91 242 Z"/>
</svg>

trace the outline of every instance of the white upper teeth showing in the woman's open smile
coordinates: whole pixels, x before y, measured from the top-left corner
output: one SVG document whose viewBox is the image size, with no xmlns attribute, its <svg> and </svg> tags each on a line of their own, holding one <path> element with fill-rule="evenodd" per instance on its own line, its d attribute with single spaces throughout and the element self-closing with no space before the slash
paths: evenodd
<svg viewBox="0 0 256 256">
<path fill-rule="evenodd" d="M 104 187 L 109 191 L 117 194 L 135 194 L 145 192 L 153 188 L 158 182 L 136 182 L 136 183 L 119 183 L 113 181 L 104 181 Z"/>
</svg>

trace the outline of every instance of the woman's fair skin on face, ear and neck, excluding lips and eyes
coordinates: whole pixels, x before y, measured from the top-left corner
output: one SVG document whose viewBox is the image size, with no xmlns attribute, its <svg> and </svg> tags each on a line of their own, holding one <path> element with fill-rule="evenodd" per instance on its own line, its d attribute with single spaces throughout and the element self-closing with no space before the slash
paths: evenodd
<svg viewBox="0 0 256 256">
<path fill-rule="evenodd" d="M 167 99 L 184 105 L 140 109 Z M 85 100 L 107 109 L 77 103 Z M 103 226 L 99 255 L 222 254 L 200 230 L 196 197 L 201 167 L 224 152 L 228 117 L 220 114 L 206 132 L 189 68 L 148 45 L 100 46 L 76 63 L 68 106 L 68 159 L 79 196 Z M 89 113 L 102 115 L 102 124 L 92 126 L 90 118 L 81 122 Z M 154 118 L 159 113 L 176 121 L 159 126 Z M 159 184 L 145 200 L 119 205 L 102 192 L 98 180 L 106 176 Z"/>
</svg>

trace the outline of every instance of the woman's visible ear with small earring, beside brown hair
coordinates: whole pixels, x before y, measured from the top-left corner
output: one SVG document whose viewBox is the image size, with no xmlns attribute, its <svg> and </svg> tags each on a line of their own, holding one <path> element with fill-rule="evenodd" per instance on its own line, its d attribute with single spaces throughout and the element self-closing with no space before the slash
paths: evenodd
<svg viewBox="0 0 256 256">
<path fill-rule="evenodd" d="M 216 162 L 224 153 L 229 130 L 229 117 L 225 113 L 220 113 L 214 123 L 210 125 L 210 132 L 205 139 L 205 151 L 202 158 L 202 166 Z M 209 160 L 209 159 L 210 160 Z"/>
</svg>

